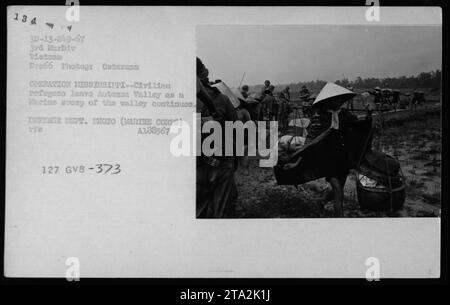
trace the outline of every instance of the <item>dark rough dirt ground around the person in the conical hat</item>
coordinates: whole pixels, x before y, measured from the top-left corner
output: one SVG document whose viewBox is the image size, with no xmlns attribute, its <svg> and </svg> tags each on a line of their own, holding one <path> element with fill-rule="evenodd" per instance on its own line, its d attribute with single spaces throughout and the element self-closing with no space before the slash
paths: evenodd
<svg viewBox="0 0 450 305">
<path fill-rule="evenodd" d="M 441 112 L 440 105 L 388 113 L 374 117 L 377 127 L 373 148 L 396 157 L 406 180 L 404 208 L 398 212 L 361 210 L 357 200 L 355 173 L 345 185 L 345 217 L 438 217 L 441 208 Z M 331 202 L 320 214 L 318 201 L 329 186 L 319 179 L 298 186 L 277 185 L 272 168 L 261 168 L 258 160 L 236 171 L 237 218 L 333 217 Z"/>
</svg>

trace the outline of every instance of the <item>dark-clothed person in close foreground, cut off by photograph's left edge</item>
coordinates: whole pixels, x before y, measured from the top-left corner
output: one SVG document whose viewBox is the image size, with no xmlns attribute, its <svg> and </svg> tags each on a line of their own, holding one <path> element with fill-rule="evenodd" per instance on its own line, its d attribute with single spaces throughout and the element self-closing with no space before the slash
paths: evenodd
<svg viewBox="0 0 450 305">
<path fill-rule="evenodd" d="M 209 85 L 208 69 L 197 58 L 197 109 L 202 123 L 208 120 L 237 121 L 229 98 Z M 203 134 L 202 134 L 203 135 Z M 223 139 L 225 140 L 225 139 Z M 225 145 L 222 145 L 225 147 Z M 197 157 L 197 218 L 229 218 L 233 216 L 237 189 L 234 181 L 233 156 Z"/>
</svg>

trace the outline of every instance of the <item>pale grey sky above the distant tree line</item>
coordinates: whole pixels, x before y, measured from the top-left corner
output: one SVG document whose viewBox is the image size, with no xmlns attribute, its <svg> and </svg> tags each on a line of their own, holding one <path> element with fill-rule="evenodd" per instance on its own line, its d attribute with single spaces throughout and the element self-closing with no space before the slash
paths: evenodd
<svg viewBox="0 0 450 305">
<path fill-rule="evenodd" d="M 197 56 L 230 87 L 417 75 L 441 69 L 440 26 L 198 26 Z"/>
</svg>

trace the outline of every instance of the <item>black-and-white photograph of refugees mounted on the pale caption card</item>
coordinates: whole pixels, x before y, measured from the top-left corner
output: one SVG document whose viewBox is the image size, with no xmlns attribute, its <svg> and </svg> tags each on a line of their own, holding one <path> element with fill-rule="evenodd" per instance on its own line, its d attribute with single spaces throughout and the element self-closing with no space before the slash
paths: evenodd
<svg viewBox="0 0 450 305">
<path fill-rule="evenodd" d="M 278 162 L 203 153 L 197 217 L 439 217 L 441 31 L 198 26 L 197 77 L 211 99 L 197 112 L 210 115 L 209 102 L 224 120 L 277 122 Z"/>
</svg>

